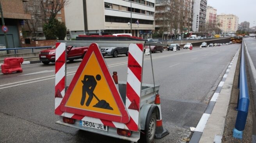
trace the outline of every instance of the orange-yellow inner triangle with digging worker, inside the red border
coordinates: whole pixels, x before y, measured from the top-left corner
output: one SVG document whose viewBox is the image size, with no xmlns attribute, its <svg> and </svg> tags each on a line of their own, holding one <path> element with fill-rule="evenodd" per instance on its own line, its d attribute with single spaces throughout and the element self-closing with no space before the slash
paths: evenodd
<svg viewBox="0 0 256 143">
<path fill-rule="evenodd" d="M 121 116 L 94 52 L 84 66 L 65 106 Z"/>
</svg>

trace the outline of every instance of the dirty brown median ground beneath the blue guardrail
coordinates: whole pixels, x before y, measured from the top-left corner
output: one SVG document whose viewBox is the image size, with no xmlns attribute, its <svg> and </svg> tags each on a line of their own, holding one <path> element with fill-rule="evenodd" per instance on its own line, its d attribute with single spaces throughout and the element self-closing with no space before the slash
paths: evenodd
<svg viewBox="0 0 256 143">
<path fill-rule="evenodd" d="M 240 52 L 241 53 L 241 52 Z M 240 56 L 239 56 L 240 59 Z M 236 74 L 233 82 L 233 89 L 231 92 L 231 98 L 229 102 L 228 113 L 226 116 L 224 133 L 222 137 L 222 143 L 252 143 L 252 128 L 253 128 L 253 120 L 252 120 L 252 113 L 254 112 L 254 106 L 252 102 L 252 97 L 250 97 L 250 105 L 249 105 L 249 112 L 247 115 L 247 120 L 245 124 L 245 129 L 243 131 L 243 138 L 237 139 L 233 137 L 233 129 L 235 128 L 236 123 L 236 116 L 237 111 L 235 110 L 237 106 L 237 98 L 239 90 L 237 88 L 238 85 L 238 75 L 239 75 L 239 67 L 240 67 L 240 60 L 238 60 L 238 64 L 236 66 Z M 247 76 L 248 76 L 247 72 Z M 247 78 L 249 80 L 249 78 Z M 251 89 L 250 82 L 248 81 L 248 89 Z"/>
</svg>

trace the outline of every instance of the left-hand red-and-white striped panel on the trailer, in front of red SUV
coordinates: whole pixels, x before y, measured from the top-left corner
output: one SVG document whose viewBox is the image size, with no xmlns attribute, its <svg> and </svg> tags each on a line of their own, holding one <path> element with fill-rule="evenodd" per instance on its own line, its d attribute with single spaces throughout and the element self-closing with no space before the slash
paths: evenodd
<svg viewBox="0 0 256 143">
<path fill-rule="evenodd" d="M 61 115 L 60 103 L 65 94 L 66 44 L 56 42 L 55 53 L 55 114 Z"/>
</svg>

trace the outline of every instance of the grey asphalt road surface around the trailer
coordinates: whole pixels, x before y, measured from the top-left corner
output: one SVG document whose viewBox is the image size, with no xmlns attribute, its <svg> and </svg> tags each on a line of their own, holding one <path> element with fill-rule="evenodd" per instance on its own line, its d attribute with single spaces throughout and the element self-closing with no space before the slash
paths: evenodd
<svg viewBox="0 0 256 143">
<path fill-rule="evenodd" d="M 160 85 L 163 126 L 170 134 L 155 143 L 182 142 L 196 127 L 240 44 L 152 54 Z M 150 57 L 144 56 L 143 83 L 153 84 Z M 105 57 L 110 73 L 126 81 L 127 57 Z M 68 62 L 67 84 L 80 64 Z M 23 73 L 0 74 L 0 142 L 128 142 L 55 124 L 55 64 L 23 65 Z"/>
</svg>

